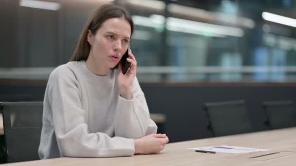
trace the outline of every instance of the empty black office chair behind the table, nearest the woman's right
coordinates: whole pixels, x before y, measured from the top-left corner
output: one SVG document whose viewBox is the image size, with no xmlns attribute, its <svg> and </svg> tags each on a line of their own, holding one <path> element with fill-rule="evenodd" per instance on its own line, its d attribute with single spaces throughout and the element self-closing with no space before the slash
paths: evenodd
<svg viewBox="0 0 296 166">
<path fill-rule="evenodd" d="M 253 132 L 244 100 L 207 102 L 203 109 L 215 136 Z"/>
</svg>

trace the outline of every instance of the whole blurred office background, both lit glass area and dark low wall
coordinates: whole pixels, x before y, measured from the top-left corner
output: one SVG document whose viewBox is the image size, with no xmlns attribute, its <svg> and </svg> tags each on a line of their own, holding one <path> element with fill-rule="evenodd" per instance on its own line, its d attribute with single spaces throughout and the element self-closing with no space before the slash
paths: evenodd
<svg viewBox="0 0 296 166">
<path fill-rule="evenodd" d="M 296 101 L 296 0 L 0 0 L 0 101 L 42 101 L 106 3 L 133 18 L 137 77 L 170 142 L 213 136 L 205 102 L 244 100 L 263 131 L 263 101 Z"/>
</svg>

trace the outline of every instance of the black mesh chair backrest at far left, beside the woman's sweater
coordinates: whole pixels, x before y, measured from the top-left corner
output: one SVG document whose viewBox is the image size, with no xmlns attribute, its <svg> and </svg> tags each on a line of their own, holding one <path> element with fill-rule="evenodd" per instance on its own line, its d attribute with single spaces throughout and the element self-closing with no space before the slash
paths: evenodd
<svg viewBox="0 0 296 166">
<path fill-rule="evenodd" d="M 0 102 L 6 161 L 39 160 L 43 102 Z"/>
</svg>

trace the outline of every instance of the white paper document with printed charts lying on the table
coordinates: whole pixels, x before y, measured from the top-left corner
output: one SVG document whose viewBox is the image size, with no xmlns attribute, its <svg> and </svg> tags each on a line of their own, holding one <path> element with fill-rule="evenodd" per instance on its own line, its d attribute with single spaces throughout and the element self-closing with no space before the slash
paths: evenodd
<svg viewBox="0 0 296 166">
<path fill-rule="evenodd" d="M 201 147 L 201 148 L 187 148 L 187 149 L 215 151 L 215 152 L 222 152 L 222 153 L 236 153 L 236 154 L 270 150 L 270 149 L 256 149 L 256 148 L 235 147 L 235 146 L 227 146 L 227 145 L 212 146 L 212 147 Z"/>
</svg>

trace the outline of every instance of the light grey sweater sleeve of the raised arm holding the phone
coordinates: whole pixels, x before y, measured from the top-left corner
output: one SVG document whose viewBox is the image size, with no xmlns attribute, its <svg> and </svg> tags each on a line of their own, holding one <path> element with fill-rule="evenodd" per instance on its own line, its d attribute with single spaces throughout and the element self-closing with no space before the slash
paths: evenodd
<svg viewBox="0 0 296 166">
<path fill-rule="evenodd" d="M 138 139 L 156 133 L 157 126 L 150 119 L 148 105 L 137 78 L 132 86 L 132 100 L 126 100 L 120 95 L 118 97 L 115 136 Z"/>
</svg>

